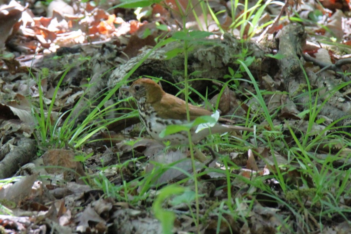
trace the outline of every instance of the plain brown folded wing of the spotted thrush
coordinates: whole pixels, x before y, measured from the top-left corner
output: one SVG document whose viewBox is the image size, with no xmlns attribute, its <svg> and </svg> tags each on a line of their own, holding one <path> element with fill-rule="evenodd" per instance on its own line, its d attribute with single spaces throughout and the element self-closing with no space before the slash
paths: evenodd
<svg viewBox="0 0 351 234">
<path fill-rule="evenodd" d="M 154 108 L 161 118 L 186 120 L 185 101 L 171 94 L 166 93 L 159 103 L 155 103 Z M 191 104 L 189 104 L 189 113 L 191 120 L 199 116 L 212 114 L 204 108 Z"/>
</svg>

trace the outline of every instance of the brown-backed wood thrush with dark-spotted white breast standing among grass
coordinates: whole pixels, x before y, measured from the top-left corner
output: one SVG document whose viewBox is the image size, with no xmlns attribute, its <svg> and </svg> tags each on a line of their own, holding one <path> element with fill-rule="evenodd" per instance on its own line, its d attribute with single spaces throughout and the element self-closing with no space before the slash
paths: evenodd
<svg viewBox="0 0 351 234">
<path fill-rule="evenodd" d="M 182 125 L 188 123 L 186 116 L 185 101 L 174 95 L 168 94 L 151 79 L 138 79 L 129 87 L 128 90 L 137 101 L 139 116 L 141 122 L 146 127 L 147 132 L 158 142 L 162 143 L 169 140 L 172 145 L 188 144 L 187 132 L 178 132 L 161 138 L 160 132 L 168 125 Z M 212 113 L 204 108 L 188 104 L 190 120 L 194 120 L 199 116 L 211 115 Z M 232 122 L 224 118 L 219 121 Z M 198 142 L 210 133 L 224 133 L 231 131 L 253 131 L 252 128 L 241 126 L 225 125 L 216 123 L 210 129 L 204 129 L 195 133 L 195 129 L 191 129 L 193 142 Z"/>
</svg>

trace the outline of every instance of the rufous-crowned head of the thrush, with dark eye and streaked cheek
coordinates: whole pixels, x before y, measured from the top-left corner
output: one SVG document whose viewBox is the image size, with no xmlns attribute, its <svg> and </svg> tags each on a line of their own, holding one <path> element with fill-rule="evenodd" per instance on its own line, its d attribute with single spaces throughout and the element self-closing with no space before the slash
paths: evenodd
<svg viewBox="0 0 351 234">
<path fill-rule="evenodd" d="M 162 99 L 165 92 L 156 82 L 151 79 L 141 78 L 132 83 L 129 92 L 135 100 L 140 101 L 145 98 L 147 103 L 153 103 Z"/>
</svg>

